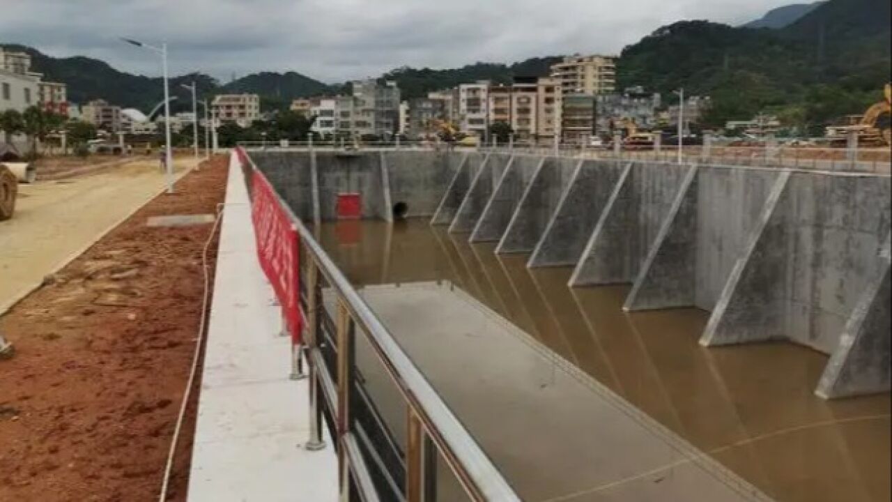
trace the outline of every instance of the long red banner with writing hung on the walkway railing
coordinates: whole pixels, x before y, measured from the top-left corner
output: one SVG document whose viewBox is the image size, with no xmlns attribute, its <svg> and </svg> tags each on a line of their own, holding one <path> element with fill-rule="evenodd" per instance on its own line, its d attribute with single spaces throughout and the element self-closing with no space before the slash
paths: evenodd
<svg viewBox="0 0 892 502">
<path fill-rule="evenodd" d="M 236 149 L 236 152 L 240 150 Z M 244 152 L 239 152 L 239 156 Z M 241 159 L 240 159 L 241 160 Z M 252 176 L 252 221 L 260 268 L 276 291 L 294 344 L 301 341 L 301 308 L 298 292 L 298 237 L 276 192 L 260 171 Z"/>
</svg>

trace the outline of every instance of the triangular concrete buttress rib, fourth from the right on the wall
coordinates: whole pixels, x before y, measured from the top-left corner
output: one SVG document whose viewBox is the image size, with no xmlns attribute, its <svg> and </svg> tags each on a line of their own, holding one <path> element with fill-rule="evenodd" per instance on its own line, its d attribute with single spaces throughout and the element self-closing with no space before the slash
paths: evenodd
<svg viewBox="0 0 892 502">
<path fill-rule="evenodd" d="M 627 232 L 632 218 L 632 163 L 628 163 L 607 205 L 592 230 L 589 242 L 568 285 L 621 282 L 626 277 L 632 259 L 632 242 Z"/>
</svg>

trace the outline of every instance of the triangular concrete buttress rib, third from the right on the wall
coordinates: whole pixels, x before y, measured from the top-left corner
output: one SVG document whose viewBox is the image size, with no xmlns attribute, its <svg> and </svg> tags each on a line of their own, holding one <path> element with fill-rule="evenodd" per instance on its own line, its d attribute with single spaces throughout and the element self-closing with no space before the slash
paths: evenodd
<svg viewBox="0 0 892 502">
<path fill-rule="evenodd" d="M 697 292 L 698 167 L 691 166 L 648 251 L 623 310 L 694 305 Z"/>
</svg>

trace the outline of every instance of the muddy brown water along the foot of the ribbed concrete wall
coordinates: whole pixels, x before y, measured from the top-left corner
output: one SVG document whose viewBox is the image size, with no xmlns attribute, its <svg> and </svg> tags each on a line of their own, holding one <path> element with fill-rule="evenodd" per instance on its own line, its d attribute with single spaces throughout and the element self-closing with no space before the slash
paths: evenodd
<svg viewBox="0 0 892 502">
<path fill-rule="evenodd" d="M 326 223 L 320 237 L 357 286 L 452 281 L 772 498 L 890 498 L 890 397 L 815 397 L 827 356 L 700 347 L 705 311 L 627 314 L 629 286 L 571 289 L 568 267 L 527 269 L 425 220 Z"/>
</svg>

